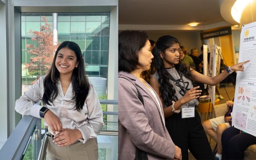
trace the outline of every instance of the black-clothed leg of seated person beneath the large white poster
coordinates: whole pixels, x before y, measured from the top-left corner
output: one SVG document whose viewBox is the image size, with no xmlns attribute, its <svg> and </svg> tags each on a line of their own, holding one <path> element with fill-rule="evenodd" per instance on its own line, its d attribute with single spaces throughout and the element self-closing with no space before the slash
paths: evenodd
<svg viewBox="0 0 256 160">
<path fill-rule="evenodd" d="M 222 159 L 243 159 L 244 151 L 250 145 L 256 144 L 256 136 L 241 132 L 241 130 L 230 127 L 221 136 Z"/>
</svg>

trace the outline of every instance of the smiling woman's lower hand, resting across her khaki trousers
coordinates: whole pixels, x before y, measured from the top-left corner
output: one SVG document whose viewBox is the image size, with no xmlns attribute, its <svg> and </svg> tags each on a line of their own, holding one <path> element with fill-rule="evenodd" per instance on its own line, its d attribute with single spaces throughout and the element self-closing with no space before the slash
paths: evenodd
<svg viewBox="0 0 256 160">
<path fill-rule="evenodd" d="M 82 133 L 78 129 L 63 129 L 54 135 L 53 142 L 60 147 L 73 144 L 75 141 L 82 139 Z"/>
</svg>

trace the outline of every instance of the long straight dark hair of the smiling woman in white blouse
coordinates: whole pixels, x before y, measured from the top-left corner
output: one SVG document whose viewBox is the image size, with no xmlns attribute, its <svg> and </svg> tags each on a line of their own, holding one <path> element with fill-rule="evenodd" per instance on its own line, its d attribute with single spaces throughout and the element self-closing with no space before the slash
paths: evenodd
<svg viewBox="0 0 256 160">
<path fill-rule="evenodd" d="M 76 109 L 80 111 L 83 108 L 83 104 L 88 96 L 90 83 L 86 76 L 86 72 L 84 71 L 84 62 L 81 50 L 78 44 L 72 41 L 62 42 L 55 52 L 50 71 L 44 79 L 45 93 L 42 96 L 42 102 L 50 105 L 50 102 L 53 103 L 58 96 L 57 82 L 59 80 L 59 71 L 56 68 L 55 61 L 59 50 L 62 48 L 68 48 L 74 51 L 77 57 L 78 66 L 74 68 L 72 73 L 72 87 L 74 94 L 72 100 L 75 99 Z"/>
</svg>

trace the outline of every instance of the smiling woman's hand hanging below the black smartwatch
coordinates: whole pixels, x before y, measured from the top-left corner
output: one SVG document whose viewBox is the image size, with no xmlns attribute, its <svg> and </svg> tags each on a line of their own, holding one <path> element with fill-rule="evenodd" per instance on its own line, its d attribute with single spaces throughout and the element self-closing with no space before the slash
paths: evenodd
<svg viewBox="0 0 256 160">
<path fill-rule="evenodd" d="M 62 124 L 58 116 L 56 116 L 50 109 L 45 113 L 45 121 L 52 129 L 53 134 L 62 130 Z"/>
</svg>

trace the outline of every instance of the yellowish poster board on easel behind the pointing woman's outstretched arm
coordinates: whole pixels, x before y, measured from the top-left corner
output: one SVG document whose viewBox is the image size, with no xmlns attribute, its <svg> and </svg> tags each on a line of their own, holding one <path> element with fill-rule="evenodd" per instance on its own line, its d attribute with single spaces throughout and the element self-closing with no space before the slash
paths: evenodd
<svg viewBox="0 0 256 160">
<path fill-rule="evenodd" d="M 211 45 L 210 47 L 210 62 L 209 62 L 209 77 L 214 77 L 220 73 L 220 61 L 222 57 L 222 51 L 219 46 Z M 208 93 L 212 105 L 215 104 L 215 86 L 209 85 Z"/>
</svg>

